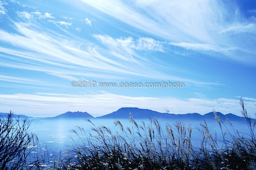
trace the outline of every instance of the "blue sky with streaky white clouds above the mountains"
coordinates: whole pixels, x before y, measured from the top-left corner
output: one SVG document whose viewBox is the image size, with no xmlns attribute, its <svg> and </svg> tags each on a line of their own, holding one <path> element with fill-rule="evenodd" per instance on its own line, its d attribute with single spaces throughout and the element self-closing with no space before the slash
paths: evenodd
<svg viewBox="0 0 256 170">
<path fill-rule="evenodd" d="M 0 112 L 253 118 L 255 45 L 254 0 L 0 1 Z"/>
</svg>

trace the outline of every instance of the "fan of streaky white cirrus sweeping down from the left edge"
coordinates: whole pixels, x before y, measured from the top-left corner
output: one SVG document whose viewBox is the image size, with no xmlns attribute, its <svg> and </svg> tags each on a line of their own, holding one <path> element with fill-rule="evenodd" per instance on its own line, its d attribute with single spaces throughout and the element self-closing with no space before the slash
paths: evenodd
<svg viewBox="0 0 256 170">
<path fill-rule="evenodd" d="M 1 63 L 3 66 L 40 70 L 60 77 L 73 77 L 72 79 L 75 76 L 82 75 L 106 77 L 107 72 L 104 74 L 102 71 L 142 77 L 152 76 L 146 72 L 150 68 L 136 62 L 136 59 L 129 60 L 130 65 L 121 63 L 118 60 L 127 61 L 125 59 L 127 56 L 110 55 L 112 52 L 95 47 L 93 42 L 79 41 L 78 37 L 77 41 L 69 40 L 69 37 L 62 38 L 54 32 L 42 32 L 41 28 L 31 22 L 14 22 L 14 26 L 18 34 L 0 30 L 0 40 L 5 44 L 14 45 L 14 48 L 1 47 L 2 52 L 5 53 L 3 56 L 12 59 L 16 63 L 22 60 L 26 62 L 19 64 L 4 62 Z M 130 50 L 132 49 L 130 48 Z M 109 55 L 105 56 L 105 54 Z M 134 53 L 134 55 L 136 54 Z M 138 71 L 138 69 L 134 71 L 133 67 L 137 67 L 138 64 L 141 67 L 141 71 Z M 99 74 L 99 71 L 101 74 Z M 156 75 L 158 74 L 156 73 Z M 111 75 L 110 77 L 113 76 Z"/>
</svg>

